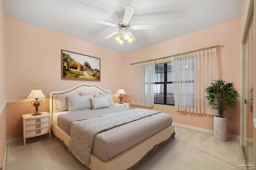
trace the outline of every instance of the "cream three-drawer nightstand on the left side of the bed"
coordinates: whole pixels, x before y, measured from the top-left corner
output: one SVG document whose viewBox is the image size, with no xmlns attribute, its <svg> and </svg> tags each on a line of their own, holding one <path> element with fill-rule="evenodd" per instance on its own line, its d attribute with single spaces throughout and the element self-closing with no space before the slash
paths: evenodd
<svg viewBox="0 0 256 170">
<path fill-rule="evenodd" d="M 51 115 L 47 111 L 40 113 L 42 115 L 32 116 L 34 113 L 22 115 L 24 146 L 26 145 L 26 138 L 49 133 L 51 139 Z"/>
</svg>

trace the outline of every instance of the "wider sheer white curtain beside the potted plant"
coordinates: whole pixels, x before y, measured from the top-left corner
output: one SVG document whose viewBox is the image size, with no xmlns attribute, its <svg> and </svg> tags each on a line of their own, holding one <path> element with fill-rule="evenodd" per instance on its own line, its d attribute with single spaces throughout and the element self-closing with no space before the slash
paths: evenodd
<svg viewBox="0 0 256 170">
<path fill-rule="evenodd" d="M 216 48 L 177 55 L 173 63 L 176 110 L 216 114 L 208 108 L 204 91 L 218 79 Z"/>
</svg>

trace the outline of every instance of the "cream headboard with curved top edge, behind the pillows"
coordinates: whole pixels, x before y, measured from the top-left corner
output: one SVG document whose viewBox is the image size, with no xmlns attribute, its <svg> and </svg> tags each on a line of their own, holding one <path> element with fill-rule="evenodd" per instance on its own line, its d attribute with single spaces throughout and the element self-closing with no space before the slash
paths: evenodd
<svg viewBox="0 0 256 170">
<path fill-rule="evenodd" d="M 56 94 L 72 94 L 79 92 L 110 92 L 109 90 L 104 90 L 97 84 L 78 84 L 72 88 L 62 90 L 62 91 L 54 91 L 50 92 L 50 114 L 56 111 Z"/>
</svg>

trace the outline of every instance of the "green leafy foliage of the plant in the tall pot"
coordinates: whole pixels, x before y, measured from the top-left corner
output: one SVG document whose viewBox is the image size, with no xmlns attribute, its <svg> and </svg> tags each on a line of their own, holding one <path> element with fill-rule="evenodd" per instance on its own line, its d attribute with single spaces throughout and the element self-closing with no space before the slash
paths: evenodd
<svg viewBox="0 0 256 170">
<path fill-rule="evenodd" d="M 205 89 L 208 106 L 218 110 L 218 117 L 223 117 L 223 112 L 236 107 L 239 94 L 234 88 L 234 82 L 227 83 L 223 80 L 214 80 L 211 86 Z"/>
</svg>

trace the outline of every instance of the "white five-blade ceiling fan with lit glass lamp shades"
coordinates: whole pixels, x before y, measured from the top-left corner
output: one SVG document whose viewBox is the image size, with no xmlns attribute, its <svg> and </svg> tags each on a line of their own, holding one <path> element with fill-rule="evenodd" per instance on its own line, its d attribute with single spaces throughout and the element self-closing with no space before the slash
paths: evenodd
<svg viewBox="0 0 256 170">
<path fill-rule="evenodd" d="M 118 41 L 118 43 L 123 44 L 124 39 L 128 41 L 128 43 L 131 43 L 132 41 L 136 41 L 136 38 L 132 35 L 132 33 L 129 31 L 129 29 L 153 29 L 154 24 L 143 24 L 143 25 L 130 25 L 130 20 L 132 18 L 132 14 L 134 12 L 134 8 L 131 6 L 126 6 L 125 12 L 122 17 L 122 21 L 118 22 L 117 24 L 114 23 L 109 23 L 97 19 L 93 19 L 93 21 L 97 23 L 101 23 L 104 25 L 109 25 L 112 27 L 117 27 L 119 30 L 114 31 L 110 35 L 106 36 L 104 39 L 109 39 L 110 37 L 113 37 L 116 35 L 115 40 Z M 121 14 L 122 16 L 122 14 Z"/>
</svg>

